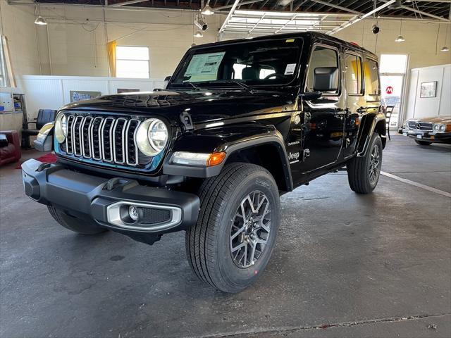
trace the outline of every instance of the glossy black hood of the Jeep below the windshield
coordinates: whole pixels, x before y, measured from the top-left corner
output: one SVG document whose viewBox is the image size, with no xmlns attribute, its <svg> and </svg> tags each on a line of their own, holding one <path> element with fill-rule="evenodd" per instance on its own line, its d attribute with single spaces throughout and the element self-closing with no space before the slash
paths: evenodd
<svg viewBox="0 0 451 338">
<path fill-rule="evenodd" d="M 189 91 L 137 92 L 104 95 L 63 106 L 63 110 L 89 110 L 161 115 L 179 120 L 184 111 L 194 124 L 238 118 L 265 112 L 289 111 L 295 102 L 292 92 Z"/>
</svg>

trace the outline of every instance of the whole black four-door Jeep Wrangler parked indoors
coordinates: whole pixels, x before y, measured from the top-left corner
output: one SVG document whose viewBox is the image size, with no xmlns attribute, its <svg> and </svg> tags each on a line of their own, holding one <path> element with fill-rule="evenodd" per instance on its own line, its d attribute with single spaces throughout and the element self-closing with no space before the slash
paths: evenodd
<svg viewBox="0 0 451 338">
<path fill-rule="evenodd" d="M 185 230 L 197 276 L 239 292 L 268 263 L 281 194 L 345 166 L 354 192 L 376 187 L 380 99 L 376 56 L 327 35 L 194 46 L 166 89 L 63 106 L 58 161 L 23 163 L 25 192 L 80 234 Z"/>
</svg>

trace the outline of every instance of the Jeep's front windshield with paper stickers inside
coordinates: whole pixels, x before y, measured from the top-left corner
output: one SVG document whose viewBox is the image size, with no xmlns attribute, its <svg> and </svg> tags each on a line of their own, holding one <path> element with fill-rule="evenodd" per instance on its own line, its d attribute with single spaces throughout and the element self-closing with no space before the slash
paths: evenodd
<svg viewBox="0 0 451 338">
<path fill-rule="evenodd" d="M 168 87 L 288 84 L 296 77 L 301 43 L 278 39 L 194 49 Z"/>
</svg>

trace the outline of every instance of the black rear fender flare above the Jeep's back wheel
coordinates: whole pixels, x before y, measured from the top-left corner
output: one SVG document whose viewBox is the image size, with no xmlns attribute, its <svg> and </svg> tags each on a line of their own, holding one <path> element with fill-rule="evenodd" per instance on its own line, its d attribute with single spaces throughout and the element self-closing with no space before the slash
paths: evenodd
<svg viewBox="0 0 451 338">
<path fill-rule="evenodd" d="M 362 157 L 366 155 L 368 150 L 369 142 L 371 141 L 371 136 L 374 131 L 378 131 L 381 134 L 382 145 L 385 148 L 386 143 L 386 126 L 385 126 L 385 115 L 381 112 L 368 113 L 362 117 L 360 121 L 359 137 L 357 141 L 357 157 Z"/>
</svg>

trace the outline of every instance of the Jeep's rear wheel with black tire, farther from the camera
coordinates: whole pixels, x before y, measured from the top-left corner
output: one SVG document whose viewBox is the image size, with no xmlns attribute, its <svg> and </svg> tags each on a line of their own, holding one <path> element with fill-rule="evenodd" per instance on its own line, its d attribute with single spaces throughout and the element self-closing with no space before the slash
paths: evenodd
<svg viewBox="0 0 451 338">
<path fill-rule="evenodd" d="M 366 155 L 352 158 L 347 163 L 347 180 L 352 191 L 369 194 L 376 188 L 382 167 L 382 140 L 374 132 Z"/>
</svg>

